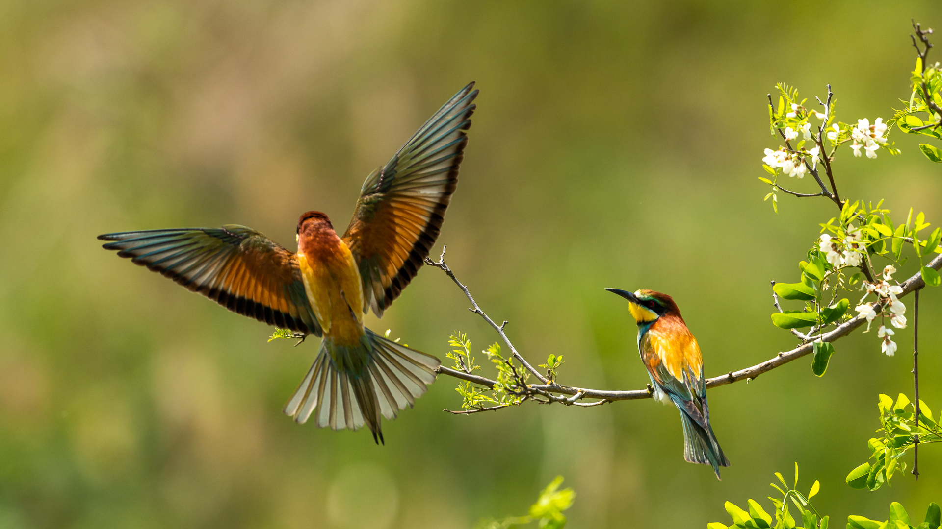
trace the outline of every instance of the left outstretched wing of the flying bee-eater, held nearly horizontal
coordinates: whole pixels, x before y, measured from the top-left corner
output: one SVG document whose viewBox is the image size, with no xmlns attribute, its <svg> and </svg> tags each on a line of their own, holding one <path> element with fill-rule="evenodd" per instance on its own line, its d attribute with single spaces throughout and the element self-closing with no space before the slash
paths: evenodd
<svg viewBox="0 0 942 529">
<path fill-rule="evenodd" d="M 147 266 L 230 311 L 320 336 L 292 252 L 245 226 L 99 235 L 120 257 Z"/>
</svg>

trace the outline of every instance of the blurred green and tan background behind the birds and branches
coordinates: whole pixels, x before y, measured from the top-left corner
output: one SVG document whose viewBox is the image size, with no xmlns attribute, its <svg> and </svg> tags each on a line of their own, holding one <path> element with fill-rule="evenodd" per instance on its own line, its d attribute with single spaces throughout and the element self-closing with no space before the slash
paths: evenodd
<svg viewBox="0 0 942 529">
<path fill-rule="evenodd" d="M 820 512 L 921 516 L 942 501 L 942 452 L 877 492 L 844 476 L 869 457 L 877 393 L 911 393 L 912 340 L 875 332 L 709 393 L 733 466 L 685 463 L 677 412 L 653 401 L 523 406 L 456 417 L 441 377 L 366 431 L 281 413 L 317 351 L 116 258 L 103 232 L 239 223 L 294 248 L 301 212 L 342 230 L 367 173 L 465 83 L 478 82 L 461 184 L 436 252 L 515 345 L 562 354 L 562 382 L 638 389 L 623 299 L 674 296 L 707 376 L 795 340 L 771 326 L 769 281 L 834 216 L 762 202 L 765 94 L 831 83 L 839 119 L 888 119 L 908 98 L 910 18 L 938 3 L 5 0 L 0 2 L 0 527 L 468 528 L 524 513 L 557 474 L 574 528 L 704 527 L 820 479 Z M 939 41 L 937 40 L 937 43 Z M 938 49 L 938 48 L 937 48 Z M 933 52 L 933 59 L 942 56 Z M 939 168 L 840 153 L 842 194 L 942 223 Z M 791 181 L 813 191 L 809 178 Z M 437 254 L 437 253 L 436 253 Z M 906 266 L 900 278 L 913 273 Z M 923 296 L 922 398 L 942 409 L 942 292 Z M 907 301 L 907 304 L 911 302 Z M 495 333 L 423 269 L 382 321 L 444 358 Z M 907 313 L 910 316 L 911 313 Z M 482 357 L 482 355 L 480 355 Z M 768 508 L 768 502 L 765 504 Z M 914 516 L 916 516 L 914 514 Z M 921 520 L 921 518 L 919 518 Z"/>
</svg>

